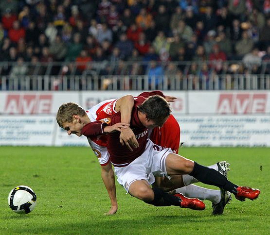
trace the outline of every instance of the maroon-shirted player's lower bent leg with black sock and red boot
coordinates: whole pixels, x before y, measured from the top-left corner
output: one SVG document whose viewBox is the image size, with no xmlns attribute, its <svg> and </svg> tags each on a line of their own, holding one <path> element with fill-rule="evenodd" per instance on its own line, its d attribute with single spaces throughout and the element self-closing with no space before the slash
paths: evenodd
<svg viewBox="0 0 270 235">
<path fill-rule="evenodd" d="M 205 204 L 198 199 L 188 199 L 181 194 L 177 196 L 170 195 L 160 188 L 151 189 L 146 180 L 137 180 L 129 185 L 128 192 L 135 198 L 138 198 L 154 206 L 180 206 L 194 210 L 204 210 Z"/>
</svg>

